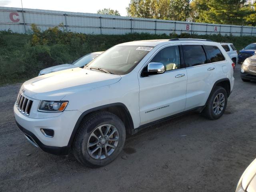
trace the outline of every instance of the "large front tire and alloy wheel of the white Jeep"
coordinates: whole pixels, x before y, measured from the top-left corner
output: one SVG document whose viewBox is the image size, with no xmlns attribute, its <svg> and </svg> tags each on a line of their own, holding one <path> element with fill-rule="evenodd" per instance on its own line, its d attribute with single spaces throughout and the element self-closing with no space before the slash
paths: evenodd
<svg viewBox="0 0 256 192">
<path fill-rule="evenodd" d="M 118 116 L 96 112 L 81 122 L 72 147 L 73 154 L 86 166 L 105 166 L 120 154 L 125 138 L 126 130 Z"/>
</svg>

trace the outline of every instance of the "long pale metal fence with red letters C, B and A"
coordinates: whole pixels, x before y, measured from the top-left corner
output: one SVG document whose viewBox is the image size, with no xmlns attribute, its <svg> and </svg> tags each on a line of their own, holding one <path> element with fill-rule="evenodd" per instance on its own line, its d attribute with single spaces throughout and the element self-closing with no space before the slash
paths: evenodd
<svg viewBox="0 0 256 192">
<path fill-rule="evenodd" d="M 114 15 L 0 7 L 0 30 L 26 33 L 36 24 L 41 30 L 63 24 L 60 29 L 85 34 L 221 34 L 256 36 L 256 27 L 181 22 Z"/>
</svg>

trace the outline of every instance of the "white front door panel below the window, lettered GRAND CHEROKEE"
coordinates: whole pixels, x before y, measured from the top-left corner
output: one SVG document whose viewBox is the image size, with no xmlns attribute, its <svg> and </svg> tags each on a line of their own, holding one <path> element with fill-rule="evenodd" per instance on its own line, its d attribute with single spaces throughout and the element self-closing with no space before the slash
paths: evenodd
<svg viewBox="0 0 256 192">
<path fill-rule="evenodd" d="M 140 78 L 139 83 L 140 125 L 184 111 L 186 69 Z"/>
</svg>

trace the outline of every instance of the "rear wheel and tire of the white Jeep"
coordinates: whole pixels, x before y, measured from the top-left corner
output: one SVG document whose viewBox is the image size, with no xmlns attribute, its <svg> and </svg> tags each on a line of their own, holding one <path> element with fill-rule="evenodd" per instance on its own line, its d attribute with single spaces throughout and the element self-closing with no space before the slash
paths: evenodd
<svg viewBox="0 0 256 192">
<path fill-rule="evenodd" d="M 202 115 L 210 120 L 220 118 L 227 106 L 228 95 L 223 87 L 216 86 L 206 102 Z"/>
</svg>

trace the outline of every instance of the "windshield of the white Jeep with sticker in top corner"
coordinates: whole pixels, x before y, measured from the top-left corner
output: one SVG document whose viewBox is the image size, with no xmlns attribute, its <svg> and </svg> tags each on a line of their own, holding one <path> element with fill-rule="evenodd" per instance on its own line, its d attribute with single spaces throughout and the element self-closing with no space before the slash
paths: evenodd
<svg viewBox="0 0 256 192">
<path fill-rule="evenodd" d="M 114 46 L 90 62 L 86 68 L 100 72 L 108 71 L 116 75 L 131 72 L 152 50 L 152 46 Z"/>
</svg>

